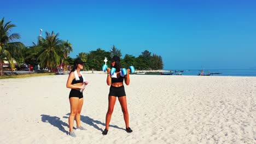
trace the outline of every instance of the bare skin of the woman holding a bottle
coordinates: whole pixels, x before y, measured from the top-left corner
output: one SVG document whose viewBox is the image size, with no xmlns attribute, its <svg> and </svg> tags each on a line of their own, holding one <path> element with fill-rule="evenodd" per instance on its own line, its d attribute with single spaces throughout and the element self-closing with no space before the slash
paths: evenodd
<svg viewBox="0 0 256 144">
<path fill-rule="evenodd" d="M 83 68 L 84 68 L 83 64 L 77 65 L 78 76 L 81 76 L 80 70 Z M 80 91 L 80 89 L 85 89 L 85 85 L 88 85 L 88 82 L 85 82 L 85 85 L 83 85 L 83 82 L 71 84 L 73 79 L 75 79 L 74 71 L 72 71 L 68 76 L 68 80 L 66 84 L 67 88 L 72 88 Z M 68 118 L 68 125 L 69 125 L 69 131 L 73 131 L 74 118 L 75 118 L 75 122 L 77 122 L 77 127 L 81 127 L 80 113 L 84 103 L 84 98 L 79 99 L 77 97 L 71 97 L 69 98 L 69 103 L 70 103 L 71 112 Z"/>
</svg>

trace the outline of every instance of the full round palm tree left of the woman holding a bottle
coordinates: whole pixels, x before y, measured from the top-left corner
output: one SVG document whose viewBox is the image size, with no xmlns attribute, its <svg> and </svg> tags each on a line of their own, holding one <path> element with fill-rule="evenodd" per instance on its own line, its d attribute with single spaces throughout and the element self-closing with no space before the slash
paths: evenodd
<svg viewBox="0 0 256 144">
<path fill-rule="evenodd" d="M 62 40 L 57 38 L 59 33 L 55 34 L 53 31 L 51 33 L 45 32 L 46 38 L 40 37 L 41 45 L 43 51 L 39 55 L 40 65 L 42 67 L 48 67 L 51 70 L 56 68 L 60 64 L 60 57 L 63 53 L 62 51 Z"/>
</svg>

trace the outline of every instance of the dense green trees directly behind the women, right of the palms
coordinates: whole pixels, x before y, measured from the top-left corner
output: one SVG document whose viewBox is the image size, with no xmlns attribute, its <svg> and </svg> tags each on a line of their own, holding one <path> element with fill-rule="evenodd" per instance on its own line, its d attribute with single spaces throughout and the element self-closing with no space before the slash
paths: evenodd
<svg viewBox="0 0 256 144">
<path fill-rule="evenodd" d="M 104 58 L 108 59 L 107 65 L 110 65 L 112 56 L 117 55 L 122 56 L 121 51 L 113 46 L 110 51 L 102 50 L 98 48 L 95 51 L 90 51 L 89 53 L 80 52 L 77 57 L 81 58 L 86 63 L 84 68 L 86 70 L 101 70 L 102 65 L 104 64 Z M 137 70 L 158 70 L 162 69 L 163 62 L 162 57 L 158 56 L 148 50 L 145 50 L 138 57 L 126 54 L 124 58 L 121 58 L 121 65 L 123 68 L 129 68 L 133 65 Z"/>
</svg>

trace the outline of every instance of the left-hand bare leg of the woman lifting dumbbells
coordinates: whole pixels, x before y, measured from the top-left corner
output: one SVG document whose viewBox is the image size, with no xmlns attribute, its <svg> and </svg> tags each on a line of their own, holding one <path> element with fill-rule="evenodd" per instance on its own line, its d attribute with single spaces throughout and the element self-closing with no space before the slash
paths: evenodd
<svg viewBox="0 0 256 144">
<path fill-rule="evenodd" d="M 112 116 L 112 113 L 114 111 L 114 106 L 115 106 L 115 100 L 117 100 L 116 97 L 114 96 L 109 96 L 108 97 L 108 111 L 106 115 L 106 129 L 108 130 L 110 119 Z"/>
</svg>

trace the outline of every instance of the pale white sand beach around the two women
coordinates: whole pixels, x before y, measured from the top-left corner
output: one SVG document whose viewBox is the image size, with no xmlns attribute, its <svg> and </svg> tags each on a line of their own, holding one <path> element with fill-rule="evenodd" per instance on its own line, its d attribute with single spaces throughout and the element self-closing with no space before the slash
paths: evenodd
<svg viewBox="0 0 256 144">
<path fill-rule="evenodd" d="M 108 135 L 106 75 L 84 74 L 82 125 L 68 136 L 68 75 L 1 79 L 0 143 L 256 143 L 256 77 L 131 75 L 133 133 L 117 100 Z M 76 126 L 76 125 L 74 125 Z"/>
</svg>

